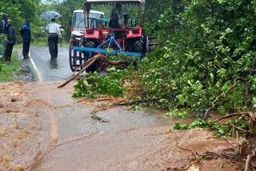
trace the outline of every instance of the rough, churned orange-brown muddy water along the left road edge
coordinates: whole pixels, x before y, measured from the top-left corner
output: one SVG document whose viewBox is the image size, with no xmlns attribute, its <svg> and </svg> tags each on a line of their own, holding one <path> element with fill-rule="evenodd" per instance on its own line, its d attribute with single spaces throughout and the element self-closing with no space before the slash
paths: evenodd
<svg viewBox="0 0 256 171">
<path fill-rule="evenodd" d="M 34 116 L 26 83 L 0 83 L 0 170 L 25 170 L 47 144 Z M 49 141 L 50 143 L 50 141 Z"/>
</svg>

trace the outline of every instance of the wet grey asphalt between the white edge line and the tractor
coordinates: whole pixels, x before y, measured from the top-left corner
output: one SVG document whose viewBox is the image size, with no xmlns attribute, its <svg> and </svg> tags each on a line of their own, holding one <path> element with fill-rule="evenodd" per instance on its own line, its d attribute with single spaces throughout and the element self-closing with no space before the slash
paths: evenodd
<svg viewBox="0 0 256 171">
<path fill-rule="evenodd" d="M 67 46 L 58 46 L 58 58 L 55 59 L 50 58 L 48 46 L 31 47 L 30 55 L 43 82 L 65 81 L 73 74 L 70 70 Z"/>
</svg>

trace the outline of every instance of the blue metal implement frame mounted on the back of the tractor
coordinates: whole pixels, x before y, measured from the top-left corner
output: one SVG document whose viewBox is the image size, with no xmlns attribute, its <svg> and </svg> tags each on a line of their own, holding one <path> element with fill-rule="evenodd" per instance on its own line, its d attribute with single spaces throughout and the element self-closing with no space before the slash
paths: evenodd
<svg viewBox="0 0 256 171">
<path fill-rule="evenodd" d="M 114 35 L 112 35 L 108 40 L 106 40 L 106 42 L 103 42 L 100 46 L 98 46 L 97 48 L 90 48 L 90 47 L 79 47 L 79 46 L 73 46 L 73 59 L 74 59 L 74 56 L 75 56 L 75 53 L 76 51 L 85 51 L 85 52 L 90 52 L 90 57 L 87 58 L 87 56 L 85 57 L 84 61 L 86 62 L 88 59 L 91 58 L 91 53 L 101 53 L 101 54 L 105 54 L 106 55 L 106 51 L 101 49 L 101 47 L 103 45 L 105 45 L 107 42 L 110 42 L 108 48 L 110 48 L 110 45 L 112 43 L 112 41 L 114 41 L 114 43 L 118 46 L 119 50 L 113 50 L 110 55 L 113 55 L 113 54 L 126 54 L 128 56 L 137 56 L 139 60 L 142 59 L 142 54 L 141 53 L 135 53 L 135 52 L 124 52 L 122 50 L 122 47 L 119 46 L 118 42 L 114 39 Z M 106 56 L 107 58 L 107 56 Z"/>
</svg>

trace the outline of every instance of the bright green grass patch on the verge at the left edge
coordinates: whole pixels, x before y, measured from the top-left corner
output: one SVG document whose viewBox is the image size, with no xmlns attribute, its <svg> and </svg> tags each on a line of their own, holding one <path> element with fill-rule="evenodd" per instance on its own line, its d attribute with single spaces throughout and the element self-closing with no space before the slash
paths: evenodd
<svg viewBox="0 0 256 171">
<path fill-rule="evenodd" d="M 20 70 L 17 52 L 13 51 L 10 65 L 6 65 L 4 58 L 0 58 L 0 82 L 14 81 L 14 73 Z"/>
</svg>

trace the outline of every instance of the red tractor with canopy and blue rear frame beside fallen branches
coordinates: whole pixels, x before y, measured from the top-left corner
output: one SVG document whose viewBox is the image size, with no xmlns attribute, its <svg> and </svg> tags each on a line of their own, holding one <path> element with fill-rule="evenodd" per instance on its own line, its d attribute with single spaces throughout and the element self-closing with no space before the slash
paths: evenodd
<svg viewBox="0 0 256 171">
<path fill-rule="evenodd" d="M 113 22 L 106 18 L 96 18 L 90 14 L 91 6 L 118 6 L 123 7 L 122 26 L 114 26 Z M 137 6 L 140 10 L 138 17 L 129 18 L 127 6 Z M 119 53 L 128 56 L 137 56 L 142 59 L 149 50 L 149 46 L 156 44 L 149 43 L 143 31 L 143 20 L 145 11 L 145 0 L 87 0 L 83 4 L 85 30 L 81 37 L 73 35 L 70 39 L 70 69 L 81 70 L 83 62 L 92 58 L 97 52 L 107 54 L 106 49 L 113 51 L 109 55 Z M 114 8 L 113 8 L 114 9 Z M 131 10 L 134 10 L 130 7 Z M 98 9 L 96 9 L 98 10 Z M 112 11 L 113 12 L 113 11 Z M 116 23 L 115 23 L 116 24 Z M 86 72 L 98 70 L 99 64 L 94 63 Z"/>
</svg>

